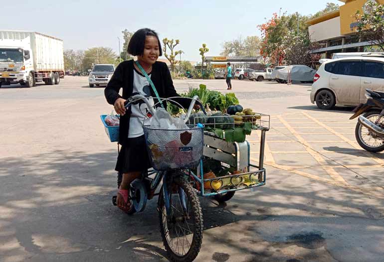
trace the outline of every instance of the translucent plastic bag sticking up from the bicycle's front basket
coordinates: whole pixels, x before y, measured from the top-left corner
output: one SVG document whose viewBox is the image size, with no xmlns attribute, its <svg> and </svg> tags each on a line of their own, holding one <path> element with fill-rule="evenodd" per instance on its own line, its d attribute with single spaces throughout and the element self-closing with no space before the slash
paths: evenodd
<svg viewBox="0 0 384 262">
<path fill-rule="evenodd" d="M 159 108 L 152 118 L 151 129 L 183 130 L 189 128 L 184 122 L 183 115 L 179 118 L 174 118 L 167 112 L 167 110 Z"/>
</svg>

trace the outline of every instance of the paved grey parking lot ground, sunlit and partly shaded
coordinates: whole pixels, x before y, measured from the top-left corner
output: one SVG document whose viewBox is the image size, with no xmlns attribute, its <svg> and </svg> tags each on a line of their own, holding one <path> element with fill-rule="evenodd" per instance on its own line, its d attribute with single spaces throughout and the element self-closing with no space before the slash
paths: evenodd
<svg viewBox="0 0 384 262">
<path fill-rule="evenodd" d="M 179 92 L 224 80 L 176 80 Z M 196 261 L 378 262 L 384 247 L 383 154 L 354 138 L 350 109 L 320 111 L 309 85 L 233 81 L 244 108 L 271 115 L 267 185 L 219 205 L 201 199 Z M 167 261 L 156 199 L 127 217 L 111 204 L 116 143 L 99 115 L 112 107 L 85 77 L 1 88 L 0 261 Z M 247 138 L 257 162 L 259 134 Z"/>
</svg>

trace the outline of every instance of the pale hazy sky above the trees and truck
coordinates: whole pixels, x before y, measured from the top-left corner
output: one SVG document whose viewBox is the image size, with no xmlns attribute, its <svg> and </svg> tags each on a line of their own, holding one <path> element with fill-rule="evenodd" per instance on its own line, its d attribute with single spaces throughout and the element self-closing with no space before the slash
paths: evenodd
<svg viewBox="0 0 384 262">
<path fill-rule="evenodd" d="M 338 0 L 18 0 L 1 2 L 0 30 L 26 30 L 55 36 L 64 49 L 111 47 L 116 53 L 121 31 L 149 27 L 160 39 L 179 39 L 182 60 L 218 56 L 227 40 L 260 36 L 258 24 L 274 12 L 313 14 Z M 123 43 L 120 43 L 121 46 Z"/>
</svg>

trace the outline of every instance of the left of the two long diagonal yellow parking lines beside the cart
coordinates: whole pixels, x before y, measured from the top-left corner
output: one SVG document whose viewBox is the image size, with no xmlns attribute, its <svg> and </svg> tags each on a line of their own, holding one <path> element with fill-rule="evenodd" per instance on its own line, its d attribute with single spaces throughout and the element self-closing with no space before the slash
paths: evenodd
<svg viewBox="0 0 384 262">
<path fill-rule="evenodd" d="M 304 140 L 304 138 L 298 134 L 282 117 L 279 117 L 279 120 L 294 136 L 296 136 L 296 138 L 304 145 L 305 149 L 313 156 L 313 158 L 315 158 L 315 160 L 335 181 L 341 184 L 347 184 L 341 175 L 339 175 L 331 166 L 327 165 L 327 162 L 324 160 L 321 154 L 312 149 L 311 145 L 308 144 L 308 142 Z"/>
</svg>

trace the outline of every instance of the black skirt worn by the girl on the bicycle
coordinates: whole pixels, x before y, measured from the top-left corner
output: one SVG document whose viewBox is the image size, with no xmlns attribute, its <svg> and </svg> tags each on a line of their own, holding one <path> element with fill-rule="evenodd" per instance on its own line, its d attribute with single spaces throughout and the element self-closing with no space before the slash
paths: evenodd
<svg viewBox="0 0 384 262">
<path fill-rule="evenodd" d="M 128 138 L 127 146 L 122 146 L 115 170 L 121 173 L 142 172 L 151 168 L 144 134 Z"/>
</svg>

